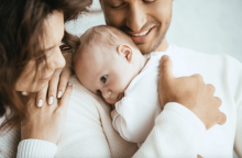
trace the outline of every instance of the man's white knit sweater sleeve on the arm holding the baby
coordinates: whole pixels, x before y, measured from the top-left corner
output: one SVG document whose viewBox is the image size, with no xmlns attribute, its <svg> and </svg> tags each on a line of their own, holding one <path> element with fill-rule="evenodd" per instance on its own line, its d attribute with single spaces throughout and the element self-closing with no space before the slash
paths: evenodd
<svg viewBox="0 0 242 158">
<path fill-rule="evenodd" d="M 197 145 L 205 132 L 204 123 L 190 110 L 178 103 L 167 103 L 133 157 L 197 158 Z"/>
</svg>

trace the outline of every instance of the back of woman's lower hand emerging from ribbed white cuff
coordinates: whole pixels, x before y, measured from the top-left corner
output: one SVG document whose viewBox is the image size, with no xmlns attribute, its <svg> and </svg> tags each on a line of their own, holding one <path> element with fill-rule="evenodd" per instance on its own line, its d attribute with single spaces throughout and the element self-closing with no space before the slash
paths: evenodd
<svg viewBox="0 0 242 158">
<path fill-rule="evenodd" d="M 28 103 L 29 119 L 21 123 L 21 139 L 42 139 L 57 144 L 66 121 L 67 106 L 73 87 L 68 83 L 63 98 L 52 105 L 35 105 L 35 95 Z"/>
</svg>

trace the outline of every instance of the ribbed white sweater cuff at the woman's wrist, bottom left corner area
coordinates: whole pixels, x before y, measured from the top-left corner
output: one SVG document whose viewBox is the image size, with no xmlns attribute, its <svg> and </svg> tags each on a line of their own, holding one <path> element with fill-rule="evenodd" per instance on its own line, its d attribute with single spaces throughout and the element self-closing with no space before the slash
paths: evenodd
<svg viewBox="0 0 242 158">
<path fill-rule="evenodd" d="M 41 139 L 24 139 L 18 146 L 16 158 L 53 158 L 57 146 Z"/>
</svg>

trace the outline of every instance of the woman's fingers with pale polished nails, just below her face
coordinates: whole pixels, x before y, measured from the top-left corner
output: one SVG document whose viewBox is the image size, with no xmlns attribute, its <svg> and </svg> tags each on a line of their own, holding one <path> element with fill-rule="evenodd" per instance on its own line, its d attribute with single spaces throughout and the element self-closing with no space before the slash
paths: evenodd
<svg viewBox="0 0 242 158">
<path fill-rule="evenodd" d="M 41 90 L 36 98 L 36 105 L 42 106 L 47 97 L 47 103 L 51 105 L 56 102 L 56 97 L 62 98 L 63 93 L 66 90 L 66 86 L 69 77 L 73 74 L 72 69 L 72 53 L 65 53 L 63 56 L 66 59 L 66 66 L 63 69 L 56 69 L 52 80 L 48 82 L 43 90 Z M 48 94 L 47 94 L 48 93 Z"/>
</svg>

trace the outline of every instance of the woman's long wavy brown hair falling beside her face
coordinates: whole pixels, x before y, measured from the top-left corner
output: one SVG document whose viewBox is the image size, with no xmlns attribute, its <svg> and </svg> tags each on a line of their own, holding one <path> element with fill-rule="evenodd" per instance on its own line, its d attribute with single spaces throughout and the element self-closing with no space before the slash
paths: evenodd
<svg viewBox="0 0 242 158">
<path fill-rule="evenodd" d="M 18 127 L 28 117 L 25 102 L 15 91 L 15 83 L 25 66 L 35 59 L 37 69 L 45 52 L 41 48 L 44 21 L 54 11 L 64 13 L 64 21 L 87 12 L 92 0 L 1 0 L 0 1 L 0 131 Z M 76 36 L 65 31 L 63 52 L 75 52 Z"/>
</svg>

